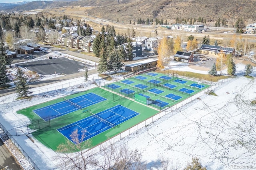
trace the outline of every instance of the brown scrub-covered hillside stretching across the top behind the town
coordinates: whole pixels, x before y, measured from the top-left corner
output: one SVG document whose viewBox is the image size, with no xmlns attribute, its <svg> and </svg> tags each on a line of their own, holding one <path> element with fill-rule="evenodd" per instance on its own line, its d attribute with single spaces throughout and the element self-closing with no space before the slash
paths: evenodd
<svg viewBox="0 0 256 170">
<path fill-rule="evenodd" d="M 79 1 L 34 1 L 9 10 L 53 9 L 56 7 L 93 8 L 84 14 L 110 20 L 137 22 L 138 19 L 163 19 L 174 23 L 176 18 L 205 18 L 207 22 L 224 18 L 234 23 L 242 18 L 250 23 L 256 22 L 256 0 L 79 0 Z"/>
</svg>

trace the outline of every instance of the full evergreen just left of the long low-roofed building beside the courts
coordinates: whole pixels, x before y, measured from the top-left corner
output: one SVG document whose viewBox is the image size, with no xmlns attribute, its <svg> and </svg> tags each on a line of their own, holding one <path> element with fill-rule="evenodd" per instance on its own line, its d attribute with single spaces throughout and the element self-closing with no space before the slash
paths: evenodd
<svg viewBox="0 0 256 170">
<path fill-rule="evenodd" d="M 124 65 L 124 63 L 122 62 L 122 58 L 119 55 L 117 49 L 113 49 L 108 56 L 109 56 L 108 69 L 110 71 L 115 71 L 116 73 L 116 71 L 120 70 Z"/>
</svg>

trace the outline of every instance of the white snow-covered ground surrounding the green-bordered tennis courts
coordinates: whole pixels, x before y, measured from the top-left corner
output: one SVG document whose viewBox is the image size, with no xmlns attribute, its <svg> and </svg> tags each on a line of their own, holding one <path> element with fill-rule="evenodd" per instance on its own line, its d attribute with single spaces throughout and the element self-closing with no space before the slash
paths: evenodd
<svg viewBox="0 0 256 170">
<path fill-rule="evenodd" d="M 172 69 L 207 74 L 207 71 L 197 71 L 183 63 L 172 62 L 170 65 Z M 243 72 L 244 65 L 237 64 L 236 69 L 237 72 Z M 255 69 L 252 76 L 256 76 Z M 90 79 L 93 77 L 97 81 L 98 75 L 90 75 Z M 114 78 L 118 79 L 122 77 Z M 50 86 L 74 81 L 79 79 Z M 21 134 L 15 136 L 14 128 L 22 128 L 22 125 L 29 123 L 25 116 L 17 115 L 16 111 L 93 87 L 96 87 L 93 83 L 84 83 L 82 86 L 75 85 L 35 95 L 30 101 L 13 101 L 15 94 L 0 97 L 0 121 L 38 167 L 55 168 L 54 151 L 33 136 L 30 136 L 32 140 Z M 50 87 L 32 90 L 47 88 Z M 256 106 L 251 104 L 256 99 L 255 79 L 237 77 L 219 85 L 214 92 L 218 96 L 202 95 L 136 133 L 122 138 L 118 144 L 126 143 L 130 149 L 140 150 L 149 169 L 160 169 L 160 157 L 168 158 L 179 169 L 191 162 L 192 157 L 200 158 L 202 165 L 209 170 L 232 169 L 234 165 L 256 167 Z"/>
</svg>

